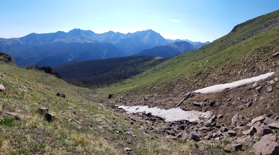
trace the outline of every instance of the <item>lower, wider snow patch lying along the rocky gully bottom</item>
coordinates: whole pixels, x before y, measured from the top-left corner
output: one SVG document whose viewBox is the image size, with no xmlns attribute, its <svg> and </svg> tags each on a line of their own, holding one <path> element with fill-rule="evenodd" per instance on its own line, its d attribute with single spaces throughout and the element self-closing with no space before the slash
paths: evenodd
<svg viewBox="0 0 279 155">
<path fill-rule="evenodd" d="M 127 111 L 127 113 L 138 113 L 138 112 L 146 112 L 152 113 L 153 116 L 158 116 L 164 118 L 166 122 L 177 121 L 177 120 L 188 120 L 190 122 L 198 121 L 199 118 L 209 118 L 211 116 L 210 111 L 207 112 L 199 112 L 199 111 L 183 111 L 180 108 L 172 108 L 172 109 L 160 109 L 157 107 L 148 108 L 148 106 L 124 106 L 121 105 L 118 108 L 122 108 Z M 137 109 L 139 108 L 139 109 Z"/>
</svg>

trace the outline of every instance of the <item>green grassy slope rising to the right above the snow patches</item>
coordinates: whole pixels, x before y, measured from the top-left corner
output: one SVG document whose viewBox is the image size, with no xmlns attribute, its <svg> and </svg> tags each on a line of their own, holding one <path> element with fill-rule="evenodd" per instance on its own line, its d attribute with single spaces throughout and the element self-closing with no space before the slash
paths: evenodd
<svg viewBox="0 0 279 155">
<path fill-rule="evenodd" d="M 127 80 L 125 85 L 96 90 L 96 94 L 102 93 L 100 97 L 105 98 L 109 93 L 117 96 L 181 93 L 274 71 L 279 63 L 272 56 L 279 48 L 279 27 L 236 44 L 231 45 L 230 42 L 278 17 L 279 11 L 274 11 L 248 20 L 235 26 L 234 33 L 198 50 L 175 56 Z"/>
</svg>

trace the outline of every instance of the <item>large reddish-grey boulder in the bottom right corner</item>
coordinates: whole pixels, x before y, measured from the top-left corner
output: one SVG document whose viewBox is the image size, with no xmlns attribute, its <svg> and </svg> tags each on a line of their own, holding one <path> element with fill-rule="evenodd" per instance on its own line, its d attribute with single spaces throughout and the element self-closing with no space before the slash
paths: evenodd
<svg viewBox="0 0 279 155">
<path fill-rule="evenodd" d="M 264 135 L 259 142 L 254 145 L 255 155 L 275 155 L 279 153 L 277 138 L 275 135 Z"/>
</svg>

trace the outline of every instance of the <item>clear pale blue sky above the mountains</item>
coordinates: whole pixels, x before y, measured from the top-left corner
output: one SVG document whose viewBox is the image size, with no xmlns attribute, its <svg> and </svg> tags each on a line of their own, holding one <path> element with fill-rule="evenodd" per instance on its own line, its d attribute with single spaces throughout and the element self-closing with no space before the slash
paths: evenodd
<svg viewBox="0 0 279 155">
<path fill-rule="evenodd" d="M 0 38 L 74 28 L 125 34 L 152 29 L 166 39 L 212 42 L 278 6 L 278 0 L 0 0 Z"/>
</svg>

